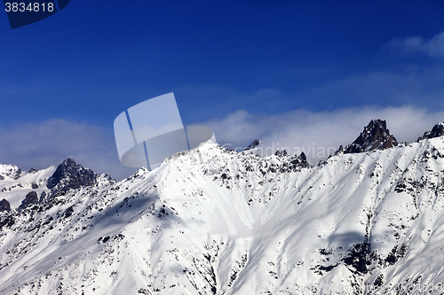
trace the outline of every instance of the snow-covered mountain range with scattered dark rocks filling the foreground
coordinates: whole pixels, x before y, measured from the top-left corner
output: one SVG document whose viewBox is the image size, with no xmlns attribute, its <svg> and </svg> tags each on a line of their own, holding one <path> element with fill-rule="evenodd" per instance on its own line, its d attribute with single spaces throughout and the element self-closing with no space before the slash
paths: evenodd
<svg viewBox="0 0 444 295">
<path fill-rule="evenodd" d="M 316 167 L 207 142 L 122 182 L 3 168 L 0 294 L 442 294 L 444 136 L 372 122 Z"/>
</svg>

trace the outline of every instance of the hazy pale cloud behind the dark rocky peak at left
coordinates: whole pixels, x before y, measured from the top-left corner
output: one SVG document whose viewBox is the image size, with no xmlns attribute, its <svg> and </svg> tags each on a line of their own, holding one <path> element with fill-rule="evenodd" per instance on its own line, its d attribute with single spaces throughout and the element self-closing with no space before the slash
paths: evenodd
<svg viewBox="0 0 444 295">
<path fill-rule="evenodd" d="M 119 180 L 136 170 L 120 163 L 112 130 L 61 119 L 0 127 L 0 163 L 42 169 L 67 157 Z"/>
</svg>

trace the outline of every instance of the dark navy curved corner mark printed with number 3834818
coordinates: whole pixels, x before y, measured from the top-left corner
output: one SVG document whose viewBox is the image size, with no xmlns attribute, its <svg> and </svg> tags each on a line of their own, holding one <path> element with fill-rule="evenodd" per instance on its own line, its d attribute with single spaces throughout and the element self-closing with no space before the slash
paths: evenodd
<svg viewBox="0 0 444 295">
<path fill-rule="evenodd" d="M 57 2 L 56 2 L 57 1 Z M 46 19 L 62 10 L 70 0 L 4 0 L 4 11 L 8 15 L 11 28 L 23 27 Z"/>
</svg>

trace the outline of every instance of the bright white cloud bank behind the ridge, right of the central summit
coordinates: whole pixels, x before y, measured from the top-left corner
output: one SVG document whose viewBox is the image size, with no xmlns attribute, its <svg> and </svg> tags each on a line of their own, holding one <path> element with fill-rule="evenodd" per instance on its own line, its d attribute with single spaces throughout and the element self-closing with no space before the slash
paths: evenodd
<svg viewBox="0 0 444 295">
<path fill-rule="evenodd" d="M 263 142 L 263 150 L 286 149 L 291 154 L 305 151 L 313 162 L 325 159 L 339 145 L 351 144 L 372 119 L 387 121 L 399 142 L 414 142 L 424 131 L 444 120 L 444 112 L 430 113 L 411 105 L 400 107 L 345 108 L 313 113 L 295 110 L 274 115 L 245 111 L 230 113 L 222 120 L 202 122 L 215 130 L 218 144 L 240 151 L 254 139 Z"/>
</svg>

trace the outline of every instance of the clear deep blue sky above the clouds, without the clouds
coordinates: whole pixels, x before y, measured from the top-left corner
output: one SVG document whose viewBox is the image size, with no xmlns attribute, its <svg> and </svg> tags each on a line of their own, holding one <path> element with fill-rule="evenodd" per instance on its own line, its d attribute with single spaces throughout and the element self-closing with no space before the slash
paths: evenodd
<svg viewBox="0 0 444 295">
<path fill-rule="evenodd" d="M 184 124 L 243 109 L 274 114 L 414 98 L 316 96 L 347 77 L 431 66 L 382 50 L 444 31 L 442 1 L 86 1 L 12 30 L 0 13 L 0 125 L 63 118 L 108 128 L 173 91 Z M 416 74 L 420 72 L 416 72 Z M 314 91 L 313 91 L 314 89 Z"/>
</svg>

